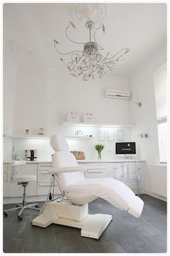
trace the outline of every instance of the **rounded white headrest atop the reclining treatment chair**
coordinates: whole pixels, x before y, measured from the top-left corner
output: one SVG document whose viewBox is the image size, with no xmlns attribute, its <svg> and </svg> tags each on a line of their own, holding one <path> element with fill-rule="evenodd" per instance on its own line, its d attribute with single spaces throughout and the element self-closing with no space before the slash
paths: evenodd
<svg viewBox="0 0 170 256">
<path fill-rule="evenodd" d="M 66 140 L 61 135 L 53 135 L 50 138 L 50 145 L 55 151 L 68 151 L 69 146 Z"/>
</svg>

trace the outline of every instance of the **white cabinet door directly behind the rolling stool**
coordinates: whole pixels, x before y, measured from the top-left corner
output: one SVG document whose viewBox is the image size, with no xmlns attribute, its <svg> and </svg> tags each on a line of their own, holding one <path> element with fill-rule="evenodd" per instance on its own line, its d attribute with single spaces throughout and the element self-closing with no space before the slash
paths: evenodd
<svg viewBox="0 0 170 256">
<path fill-rule="evenodd" d="M 12 171 L 13 175 L 35 175 L 37 176 L 37 163 L 27 163 L 23 166 L 15 166 L 14 171 Z M 14 173 L 14 174 L 13 174 Z M 37 181 L 29 182 L 26 187 L 27 196 L 33 196 L 37 193 Z M 11 180 L 10 184 L 10 197 L 20 197 L 23 195 L 22 186 L 18 185 L 17 182 L 13 182 Z"/>
</svg>

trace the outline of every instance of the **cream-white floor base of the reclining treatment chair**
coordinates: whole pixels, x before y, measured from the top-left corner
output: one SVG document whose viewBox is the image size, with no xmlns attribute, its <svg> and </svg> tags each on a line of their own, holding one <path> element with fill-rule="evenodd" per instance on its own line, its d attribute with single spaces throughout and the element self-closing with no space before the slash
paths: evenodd
<svg viewBox="0 0 170 256">
<path fill-rule="evenodd" d="M 87 209 L 87 204 L 71 205 L 70 202 L 48 202 L 43 212 L 32 221 L 32 226 L 46 228 L 52 223 L 71 226 L 81 229 L 81 236 L 99 239 L 112 221 L 112 216 L 100 213 L 90 215 L 86 212 Z"/>
</svg>

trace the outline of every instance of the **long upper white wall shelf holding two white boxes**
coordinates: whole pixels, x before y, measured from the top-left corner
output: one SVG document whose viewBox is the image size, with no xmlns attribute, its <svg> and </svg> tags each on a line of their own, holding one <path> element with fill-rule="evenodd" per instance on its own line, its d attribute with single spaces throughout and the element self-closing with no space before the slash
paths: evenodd
<svg viewBox="0 0 170 256">
<path fill-rule="evenodd" d="M 99 124 L 99 123 L 84 123 L 83 121 L 77 123 L 71 123 L 64 121 L 63 125 L 68 126 L 79 126 L 79 127 L 112 127 L 112 128 L 122 128 L 122 127 L 134 127 L 134 124 Z"/>
</svg>

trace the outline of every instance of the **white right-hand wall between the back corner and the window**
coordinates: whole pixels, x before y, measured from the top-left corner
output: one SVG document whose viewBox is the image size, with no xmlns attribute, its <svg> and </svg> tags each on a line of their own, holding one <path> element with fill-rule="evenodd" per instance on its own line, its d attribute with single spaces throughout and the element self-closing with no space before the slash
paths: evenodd
<svg viewBox="0 0 170 256">
<path fill-rule="evenodd" d="M 158 129 L 156 121 L 156 101 L 153 71 L 166 62 L 166 43 L 155 49 L 130 72 L 130 87 L 133 99 L 130 102 L 130 122 L 135 124 L 132 129 L 132 140 L 140 148 L 140 158 L 146 160 L 146 189 L 151 191 L 151 164 L 159 162 Z M 142 103 L 138 107 L 133 101 L 135 92 Z M 148 133 L 148 138 L 141 138 L 140 133 Z"/>
</svg>

